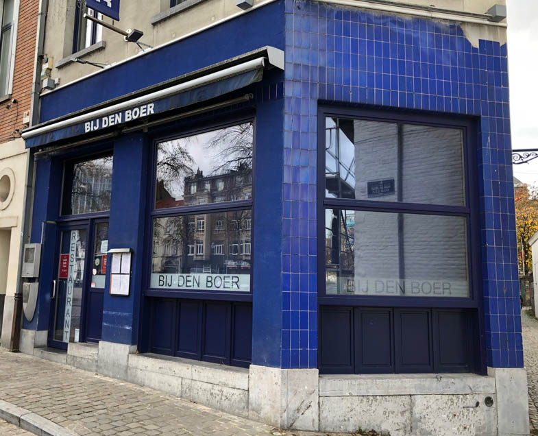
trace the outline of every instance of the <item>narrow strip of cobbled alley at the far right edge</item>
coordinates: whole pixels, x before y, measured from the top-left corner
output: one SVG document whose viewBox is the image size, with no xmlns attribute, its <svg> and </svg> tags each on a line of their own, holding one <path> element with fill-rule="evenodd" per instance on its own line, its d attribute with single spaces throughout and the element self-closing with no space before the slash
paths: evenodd
<svg viewBox="0 0 538 436">
<path fill-rule="evenodd" d="M 530 308 L 523 308 L 521 316 L 524 363 L 527 369 L 530 433 L 538 435 L 538 319 L 530 315 Z"/>
</svg>

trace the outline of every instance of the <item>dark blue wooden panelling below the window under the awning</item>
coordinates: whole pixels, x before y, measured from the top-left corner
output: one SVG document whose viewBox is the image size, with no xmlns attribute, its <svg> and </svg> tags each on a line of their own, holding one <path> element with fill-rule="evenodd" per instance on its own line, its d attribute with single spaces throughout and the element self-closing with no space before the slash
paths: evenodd
<svg viewBox="0 0 538 436">
<path fill-rule="evenodd" d="M 149 298 L 149 350 L 157 354 L 248 367 L 252 304 Z"/>
</svg>

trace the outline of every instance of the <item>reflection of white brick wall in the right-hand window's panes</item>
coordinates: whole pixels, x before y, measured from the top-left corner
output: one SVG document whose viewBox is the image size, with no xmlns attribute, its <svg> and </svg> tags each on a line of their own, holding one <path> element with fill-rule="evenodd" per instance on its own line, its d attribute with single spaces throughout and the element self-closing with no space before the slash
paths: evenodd
<svg viewBox="0 0 538 436">
<path fill-rule="evenodd" d="M 392 189 L 370 193 L 369 184 L 380 181 L 392 181 Z M 461 130 L 326 119 L 327 197 L 463 206 L 464 186 Z M 326 210 L 327 293 L 357 293 L 357 279 L 391 278 L 442 279 L 465 295 L 464 221 L 427 210 Z"/>
</svg>

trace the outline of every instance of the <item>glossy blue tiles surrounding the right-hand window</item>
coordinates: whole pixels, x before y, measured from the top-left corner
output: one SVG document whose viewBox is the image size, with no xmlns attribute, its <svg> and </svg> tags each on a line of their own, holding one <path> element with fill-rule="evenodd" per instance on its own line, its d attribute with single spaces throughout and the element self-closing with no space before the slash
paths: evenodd
<svg viewBox="0 0 538 436">
<path fill-rule="evenodd" d="M 487 365 L 523 366 L 506 55 L 454 23 L 286 1 L 282 367 L 317 367 L 319 101 L 477 117 Z"/>
</svg>

